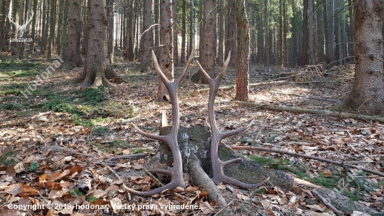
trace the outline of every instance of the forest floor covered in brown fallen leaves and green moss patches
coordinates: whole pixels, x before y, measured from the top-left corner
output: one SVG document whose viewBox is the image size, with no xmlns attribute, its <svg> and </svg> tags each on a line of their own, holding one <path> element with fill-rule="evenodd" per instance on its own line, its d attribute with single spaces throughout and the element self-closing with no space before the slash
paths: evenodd
<svg viewBox="0 0 384 216">
<path fill-rule="evenodd" d="M 116 89 L 84 89 L 64 84 L 81 68 L 55 71 L 43 85 L 25 98 L 21 91 L 34 83 L 52 61 L 0 61 L 0 215 L 214 215 L 220 208 L 207 201 L 199 185 L 178 192 L 142 198 L 128 196 L 123 184 L 149 189 L 156 182 L 130 173 L 156 152 L 157 141 L 136 133 L 131 123 L 158 134 L 162 110 L 171 118 L 170 103 L 157 103 L 158 77 L 154 71 L 140 73 L 138 63 L 117 59 L 113 65 L 128 83 Z M 182 67 L 175 69 L 179 75 Z M 218 69 L 219 70 L 219 69 Z M 189 77 L 197 71 L 193 64 Z M 350 92 L 351 66 L 327 71 L 315 68 L 281 69 L 253 65 L 250 102 L 274 106 L 334 110 Z M 221 86 L 235 83 L 235 70 L 228 69 Z M 179 89 L 181 124 L 208 124 L 207 91 L 185 78 Z M 223 130 L 251 127 L 223 140 L 227 145 L 274 147 L 289 152 L 344 161 L 384 172 L 384 124 L 347 117 L 265 110 L 233 103 L 235 89 L 219 91 L 216 122 Z M 143 154 L 145 153 L 145 154 Z M 273 152 L 241 150 L 239 153 L 264 166 L 280 168 L 293 177 L 339 189 L 354 201 L 383 211 L 384 178 L 358 169 Z M 133 154 L 140 158 L 112 157 Z M 104 164 L 103 164 L 104 163 Z M 121 175 L 122 180 L 108 167 Z M 353 176 L 353 180 L 350 177 Z M 348 180 L 348 181 L 347 181 Z M 334 215 L 302 183 L 290 190 L 273 185 L 251 191 L 218 185 L 230 203 L 227 208 L 246 209 L 267 215 Z M 345 187 L 344 187 L 345 186 Z M 86 189 L 84 189 L 86 188 Z M 89 205 L 89 203 L 91 203 Z M 179 210 L 180 205 L 196 205 Z M 42 209 L 14 210 L 40 204 Z M 50 206 L 50 205 L 51 206 Z M 88 205 L 88 206 L 87 206 Z M 103 208 L 107 210 L 89 210 Z M 117 207 L 122 206 L 123 209 Z M 169 208 L 172 207 L 173 208 Z M 167 208 L 167 209 L 166 209 Z"/>
</svg>

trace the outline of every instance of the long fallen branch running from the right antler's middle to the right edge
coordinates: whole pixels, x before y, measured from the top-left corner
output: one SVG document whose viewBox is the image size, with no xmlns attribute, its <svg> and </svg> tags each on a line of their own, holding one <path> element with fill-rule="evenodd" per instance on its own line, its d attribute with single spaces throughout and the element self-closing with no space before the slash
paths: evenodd
<svg viewBox="0 0 384 216">
<path fill-rule="evenodd" d="M 269 147 L 252 147 L 252 146 L 231 145 L 230 148 L 232 148 L 232 150 L 256 150 L 256 151 L 263 151 L 263 152 L 276 152 L 276 153 L 280 153 L 280 154 L 288 154 L 288 155 L 291 155 L 291 156 L 294 156 L 294 157 L 304 157 L 304 158 L 307 158 L 307 159 L 313 159 L 313 160 L 316 160 L 316 161 L 322 161 L 322 162 L 325 162 L 325 163 L 328 163 L 328 164 L 336 164 L 336 165 L 339 165 L 339 166 L 349 166 L 349 167 L 352 167 L 352 168 L 357 168 L 358 170 L 361 170 L 361 171 L 364 171 L 364 172 L 367 172 L 367 173 L 372 173 L 372 174 L 380 175 L 381 177 L 384 177 L 384 173 L 381 173 L 381 172 L 378 172 L 378 171 L 373 171 L 373 170 L 370 170 L 368 168 L 363 168 L 362 166 L 355 166 L 353 164 L 345 164 L 344 161 L 332 161 L 330 159 L 325 159 L 325 158 L 322 158 L 322 157 L 309 156 L 307 154 L 299 154 L 299 153 L 296 153 L 296 152 L 288 152 L 288 151 L 285 151 L 285 150 L 278 150 L 278 149 L 269 148 Z"/>
</svg>

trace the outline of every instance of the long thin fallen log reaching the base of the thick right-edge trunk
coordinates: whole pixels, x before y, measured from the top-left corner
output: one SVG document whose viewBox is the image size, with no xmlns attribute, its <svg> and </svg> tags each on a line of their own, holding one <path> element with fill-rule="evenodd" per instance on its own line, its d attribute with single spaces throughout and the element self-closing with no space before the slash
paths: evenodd
<svg viewBox="0 0 384 216">
<path fill-rule="evenodd" d="M 233 103 L 236 103 L 242 106 L 264 108 L 266 110 L 287 111 L 292 113 L 311 113 L 311 114 L 320 114 L 320 115 L 330 115 L 334 117 L 350 117 L 353 119 L 369 120 L 369 121 L 384 123 L 384 117 L 371 116 L 371 115 L 359 115 L 355 113 L 339 113 L 339 112 L 332 112 L 332 111 L 326 111 L 326 110 L 292 108 L 292 107 L 286 107 L 286 106 L 274 106 L 274 105 L 250 103 L 250 102 L 244 102 L 244 101 L 233 101 Z"/>
</svg>

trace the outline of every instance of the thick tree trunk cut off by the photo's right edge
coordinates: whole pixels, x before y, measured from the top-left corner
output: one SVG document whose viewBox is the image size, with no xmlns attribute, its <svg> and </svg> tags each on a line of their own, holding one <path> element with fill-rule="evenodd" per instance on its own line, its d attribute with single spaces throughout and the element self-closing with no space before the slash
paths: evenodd
<svg viewBox="0 0 384 216">
<path fill-rule="evenodd" d="M 344 106 L 359 113 L 380 115 L 384 113 L 383 3 L 355 3 L 355 82 Z"/>
</svg>

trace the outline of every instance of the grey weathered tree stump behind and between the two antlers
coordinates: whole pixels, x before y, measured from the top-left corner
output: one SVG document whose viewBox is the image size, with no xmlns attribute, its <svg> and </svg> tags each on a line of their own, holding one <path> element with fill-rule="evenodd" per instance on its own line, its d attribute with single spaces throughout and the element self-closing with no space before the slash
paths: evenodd
<svg viewBox="0 0 384 216">
<path fill-rule="evenodd" d="M 161 135 L 166 135 L 170 131 L 170 126 L 162 127 L 160 129 Z M 206 125 L 193 125 L 191 127 L 179 127 L 179 133 L 177 137 L 180 151 L 183 160 L 184 173 L 191 175 L 192 182 L 197 175 L 203 173 L 191 173 L 191 166 L 195 166 L 195 161 L 200 161 L 202 170 L 212 177 L 212 165 L 210 157 L 210 142 L 211 132 Z M 224 173 L 231 178 L 235 178 L 241 182 L 257 183 L 263 182 L 266 178 L 269 178 L 269 182 L 277 185 L 283 189 L 290 189 L 293 185 L 291 177 L 288 173 L 275 170 L 272 168 L 266 168 L 262 164 L 258 164 L 251 159 L 239 155 L 234 150 L 230 149 L 227 145 L 219 145 L 219 157 L 222 161 L 229 159 L 241 158 L 242 160 L 229 164 L 224 168 Z M 170 148 L 164 143 L 160 143 L 158 154 L 156 159 L 162 164 L 172 166 L 172 154 Z"/>
</svg>

